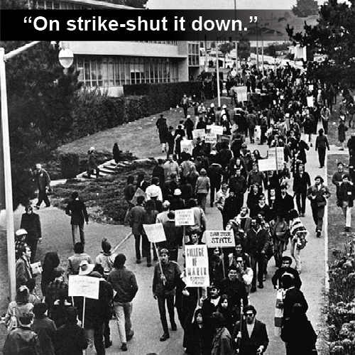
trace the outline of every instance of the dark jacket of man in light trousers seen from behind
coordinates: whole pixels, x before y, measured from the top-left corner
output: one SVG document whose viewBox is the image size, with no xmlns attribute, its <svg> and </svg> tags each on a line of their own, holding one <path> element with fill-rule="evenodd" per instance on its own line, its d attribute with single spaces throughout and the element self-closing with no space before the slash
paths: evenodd
<svg viewBox="0 0 355 355">
<path fill-rule="evenodd" d="M 136 276 L 124 266 L 122 268 L 114 268 L 111 270 L 107 281 L 111 283 L 116 291 L 116 295 L 114 296 L 116 302 L 131 302 L 136 296 L 138 291 Z"/>
</svg>

